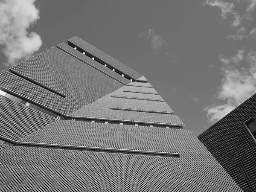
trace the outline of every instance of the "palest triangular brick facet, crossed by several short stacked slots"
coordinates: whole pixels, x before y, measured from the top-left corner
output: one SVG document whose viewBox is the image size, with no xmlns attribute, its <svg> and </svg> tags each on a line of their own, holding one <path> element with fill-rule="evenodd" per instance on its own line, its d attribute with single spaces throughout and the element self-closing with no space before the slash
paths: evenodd
<svg viewBox="0 0 256 192">
<path fill-rule="evenodd" d="M 181 125 L 183 122 L 179 119 L 177 115 L 173 114 L 160 114 L 160 113 L 147 113 L 138 111 L 120 111 L 112 110 L 110 107 L 129 107 L 133 109 L 144 109 L 144 110 L 155 110 L 155 111 L 169 111 L 172 109 L 165 102 L 158 101 L 144 101 L 139 99 L 125 99 L 125 98 L 115 98 L 113 95 L 119 95 L 120 93 L 125 93 L 127 87 L 123 86 L 120 89 L 113 91 L 112 93 L 98 99 L 97 101 L 84 106 L 83 108 L 70 113 L 70 116 L 88 116 L 92 118 L 102 118 L 102 119 L 116 119 L 124 121 L 135 121 L 135 122 L 151 122 L 151 123 L 161 123 L 167 125 Z M 145 88 L 145 87 L 143 87 Z M 149 88 L 147 88 L 149 89 Z M 137 96 L 140 93 L 128 93 L 129 96 Z M 144 98 L 154 98 L 155 95 L 141 94 Z"/>
</svg>

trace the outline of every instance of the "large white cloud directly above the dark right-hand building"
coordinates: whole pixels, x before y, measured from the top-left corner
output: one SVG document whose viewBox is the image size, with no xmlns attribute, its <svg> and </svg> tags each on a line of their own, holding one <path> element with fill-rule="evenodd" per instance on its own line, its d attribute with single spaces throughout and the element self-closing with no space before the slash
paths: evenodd
<svg viewBox="0 0 256 192">
<path fill-rule="evenodd" d="M 222 104 L 210 105 L 205 110 L 211 122 L 216 122 L 232 111 L 254 93 L 256 93 L 256 52 L 250 51 L 244 56 L 244 49 L 231 58 L 220 57 L 224 63 L 221 68 L 224 78 L 219 87 L 217 98 Z M 244 61 L 250 67 L 240 67 Z"/>
</svg>

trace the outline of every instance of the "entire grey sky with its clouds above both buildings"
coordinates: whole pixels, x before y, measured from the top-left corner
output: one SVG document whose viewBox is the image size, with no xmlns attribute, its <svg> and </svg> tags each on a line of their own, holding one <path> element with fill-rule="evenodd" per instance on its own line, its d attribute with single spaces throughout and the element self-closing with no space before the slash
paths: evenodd
<svg viewBox="0 0 256 192">
<path fill-rule="evenodd" d="M 256 0 L 0 0 L 0 70 L 75 35 L 148 79 L 195 135 L 255 93 Z"/>
</svg>

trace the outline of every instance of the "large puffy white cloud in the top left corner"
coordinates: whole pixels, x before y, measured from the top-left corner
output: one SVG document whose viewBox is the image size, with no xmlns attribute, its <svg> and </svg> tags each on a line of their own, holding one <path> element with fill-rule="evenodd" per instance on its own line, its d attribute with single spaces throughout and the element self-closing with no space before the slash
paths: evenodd
<svg viewBox="0 0 256 192">
<path fill-rule="evenodd" d="M 0 2 L 0 44 L 7 57 L 7 64 L 28 58 L 41 47 L 41 37 L 28 32 L 39 19 L 35 0 L 3 0 Z"/>
</svg>

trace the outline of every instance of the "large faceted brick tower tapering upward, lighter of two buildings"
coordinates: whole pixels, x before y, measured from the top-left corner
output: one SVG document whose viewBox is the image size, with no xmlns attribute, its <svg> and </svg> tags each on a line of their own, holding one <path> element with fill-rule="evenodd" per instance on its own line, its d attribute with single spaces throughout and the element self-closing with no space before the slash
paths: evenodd
<svg viewBox="0 0 256 192">
<path fill-rule="evenodd" d="M 0 89 L 0 191 L 241 191 L 143 75 L 78 37 Z"/>
</svg>

